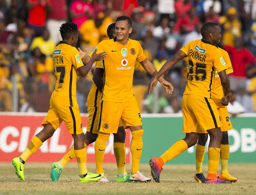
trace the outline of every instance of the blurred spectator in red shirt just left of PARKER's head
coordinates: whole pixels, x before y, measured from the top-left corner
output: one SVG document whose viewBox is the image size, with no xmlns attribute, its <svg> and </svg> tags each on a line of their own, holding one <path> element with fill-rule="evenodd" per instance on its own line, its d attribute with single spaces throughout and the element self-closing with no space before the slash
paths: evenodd
<svg viewBox="0 0 256 195">
<path fill-rule="evenodd" d="M 195 7 L 192 6 L 188 14 L 184 17 L 178 18 L 174 28 L 175 32 L 180 32 L 180 34 L 186 34 L 194 30 L 195 24 L 199 22 L 198 17 L 195 15 Z"/>
</svg>

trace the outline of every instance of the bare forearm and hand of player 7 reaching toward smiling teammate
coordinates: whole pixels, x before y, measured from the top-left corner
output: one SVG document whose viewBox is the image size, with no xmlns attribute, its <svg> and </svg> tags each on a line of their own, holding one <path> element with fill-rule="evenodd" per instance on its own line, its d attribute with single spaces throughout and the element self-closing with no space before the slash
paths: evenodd
<svg viewBox="0 0 256 195">
<path fill-rule="evenodd" d="M 89 62 L 86 65 L 83 65 L 79 68 L 77 68 L 79 75 L 86 76 L 86 74 L 90 71 L 90 68 L 94 61 L 103 60 L 106 56 L 106 53 L 103 51 L 101 53 L 96 53 L 97 48 L 95 48 L 94 52 L 92 53 Z"/>
</svg>

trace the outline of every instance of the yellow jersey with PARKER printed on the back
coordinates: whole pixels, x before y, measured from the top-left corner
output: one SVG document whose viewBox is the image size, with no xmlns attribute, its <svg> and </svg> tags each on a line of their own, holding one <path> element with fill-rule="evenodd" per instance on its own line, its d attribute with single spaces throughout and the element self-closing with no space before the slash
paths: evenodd
<svg viewBox="0 0 256 195">
<path fill-rule="evenodd" d="M 202 39 L 188 42 L 181 49 L 188 56 L 187 84 L 183 94 L 195 94 L 211 98 L 215 70 L 227 68 L 218 47 Z"/>
</svg>

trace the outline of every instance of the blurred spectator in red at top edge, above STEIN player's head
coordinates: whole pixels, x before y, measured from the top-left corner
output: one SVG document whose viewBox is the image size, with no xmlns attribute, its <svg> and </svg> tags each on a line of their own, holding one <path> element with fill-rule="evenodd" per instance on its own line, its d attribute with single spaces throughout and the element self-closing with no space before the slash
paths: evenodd
<svg viewBox="0 0 256 195">
<path fill-rule="evenodd" d="M 77 24 L 79 28 L 81 24 L 93 17 L 93 7 L 88 0 L 74 0 L 70 6 L 71 21 Z"/>
</svg>

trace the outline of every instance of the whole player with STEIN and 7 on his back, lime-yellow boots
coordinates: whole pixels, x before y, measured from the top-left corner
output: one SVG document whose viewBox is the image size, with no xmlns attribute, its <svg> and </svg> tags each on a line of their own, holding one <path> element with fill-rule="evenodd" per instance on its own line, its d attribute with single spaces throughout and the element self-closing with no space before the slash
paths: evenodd
<svg viewBox="0 0 256 195">
<path fill-rule="evenodd" d="M 105 53 L 94 52 L 86 66 L 83 65 L 78 50 L 74 47 L 78 40 L 78 28 L 73 22 L 63 23 L 59 28 L 62 41 L 52 53 L 56 76 L 55 89 L 50 97 L 50 107 L 42 121 L 43 129 L 29 142 L 23 153 L 12 159 L 17 176 L 24 180 L 23 167 L 26 159 L 34 153 L 42 143 L 50 138 L 64 120 L 68 132 L 74 139 L 74 153 L 79 168 L 79 181 L 94 181 L 103 177 L 101 174 L 90 173 L 86 169 L 86 150 L 84 148 L 82 120 L 76 100 L 77 71 L 85 76 L 96 60 L 102 60 Z"/>
</svg>

